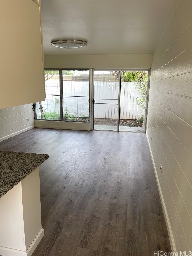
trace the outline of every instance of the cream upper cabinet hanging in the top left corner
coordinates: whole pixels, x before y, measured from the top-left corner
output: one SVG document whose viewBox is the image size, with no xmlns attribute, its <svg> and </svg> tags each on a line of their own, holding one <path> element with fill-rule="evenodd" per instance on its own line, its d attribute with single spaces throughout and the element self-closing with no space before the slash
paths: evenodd
<svg viewBox="0 0 192 256">
<path fill-rule="evenodd" d="M 0 108 L 45 100 L 39 1 L 1 0 Z"/>
</svg>

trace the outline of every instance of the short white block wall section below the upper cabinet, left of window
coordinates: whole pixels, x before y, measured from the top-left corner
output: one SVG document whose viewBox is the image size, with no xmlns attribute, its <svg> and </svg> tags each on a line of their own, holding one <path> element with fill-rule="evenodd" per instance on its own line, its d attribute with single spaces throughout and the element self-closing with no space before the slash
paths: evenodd
<svg viewBox="0 0 192 256">
<path fill-rule="evenodd" d="M 34 114 L 31 106 L 32 104 L 27 104 L 0 110 L 0 141 L 34 128 Z"/>
</svg>

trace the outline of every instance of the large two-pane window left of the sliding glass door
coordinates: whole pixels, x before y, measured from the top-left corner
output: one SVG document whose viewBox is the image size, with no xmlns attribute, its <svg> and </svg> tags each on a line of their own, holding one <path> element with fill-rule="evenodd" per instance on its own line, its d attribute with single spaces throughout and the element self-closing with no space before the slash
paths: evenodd
<svg viewBox="0 0 192 256">
<path fill-rule="evenodd" d="M 45 70 L 45 90 L 36 119 L 89 122 L 89 70 Z"/>
</svg>

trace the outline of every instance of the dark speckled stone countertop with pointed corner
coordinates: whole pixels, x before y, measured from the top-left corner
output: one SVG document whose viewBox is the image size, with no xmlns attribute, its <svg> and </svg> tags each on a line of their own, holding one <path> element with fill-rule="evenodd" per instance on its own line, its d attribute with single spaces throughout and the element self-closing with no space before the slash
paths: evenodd
<svg viewBox="0 0 192 256">
<path fill-rule="evenodd" d="M 0 197 L 42 164 L 49 155 L 0 151 Z"/>
</svg>

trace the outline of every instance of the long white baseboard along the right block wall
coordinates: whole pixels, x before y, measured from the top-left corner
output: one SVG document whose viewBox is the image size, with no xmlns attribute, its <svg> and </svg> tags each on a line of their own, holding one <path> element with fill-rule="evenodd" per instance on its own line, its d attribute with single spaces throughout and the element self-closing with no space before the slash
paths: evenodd
<svg viewBox="0 0 192 256">
<path fill-rule="evenodd" d="M 148 138 L 147 132 L 146 132 L 146 137 L 147 137 L 147 142 L 148 142 L 148 145 L 149 145 L 149 151 L 150 151 L 151 160 L 152 160 L 152 163 L 153 163 L 153 169 L 154 169 L 154 173 L 155 173 L 157 187 L 158 187 L 158 190 L 159 190 L 159 195 L 160 195 L 160 199 L 161 199 L 163 213 L 164 213 L 164 216 L 165 216 L 167 231 L 168 231 L 168 234 L 169 234 L 169 241 L 170 241 L 170 245 L 171 245 L 171 250 L 172 250 L 172 252 L 176 253 L 177 251 L 176 251 L 176 247 L 175 247 L 173 233 L 172 233 L 172 230 L 171 230 L 171 225 L 170 225 L 167 209 L 166 209 L 166 206 L 165 206 L 165 201 L 164 201 L 164 198 L 163 198 L 163 193 L 162 193 L 159 178 L 158 178 L 158 175 L 157 175 L 157 169 L 156 169 L 156 166 L 155 166 L 155 161 L 154 161 L 154 158 L 153 158 L 153 154 L 152 154 L 152 150 L 151 150 L 151 146 L 150 146 L 150 143 L 149 143 L 149 138 Z"/>
</svg>

